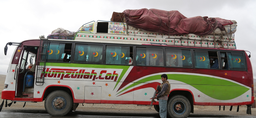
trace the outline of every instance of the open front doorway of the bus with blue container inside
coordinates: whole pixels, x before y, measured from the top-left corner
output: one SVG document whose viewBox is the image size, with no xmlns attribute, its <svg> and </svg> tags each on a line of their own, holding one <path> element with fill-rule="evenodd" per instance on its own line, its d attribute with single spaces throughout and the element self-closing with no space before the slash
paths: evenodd
<svg viewBox="0 0 256 118">
<path fill-rule="evenodd" d="M 19 62 L 15 97 L 33 98 L 38 47 L 24 46 Z"/>
</svg>

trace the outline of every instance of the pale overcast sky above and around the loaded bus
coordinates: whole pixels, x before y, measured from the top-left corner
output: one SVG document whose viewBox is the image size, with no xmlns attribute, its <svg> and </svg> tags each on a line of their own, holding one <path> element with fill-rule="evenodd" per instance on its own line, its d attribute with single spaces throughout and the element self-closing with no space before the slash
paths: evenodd
<svg viewBox="0 0 256 118">
<path fill-rule="evenodd" d="M 256 1 L 255 0 L 1 0 L 0 1 L 0 74 L 6 74 L 15 46 L 20 42 L 47 36 L 59 27 L 77 31 L 85 23 L 109 21 L 113 11 L 130 9 L 178 10 L 187 18 L 195 16 L 236 20 L 236 48 L 251 52 L 253 76 L 256 78 Z"/>
</svg>

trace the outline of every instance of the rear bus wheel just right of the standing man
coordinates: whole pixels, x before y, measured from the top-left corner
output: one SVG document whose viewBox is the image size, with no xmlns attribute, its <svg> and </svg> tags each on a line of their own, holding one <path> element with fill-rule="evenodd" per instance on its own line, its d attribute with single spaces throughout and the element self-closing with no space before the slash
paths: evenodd
<svg viewBox="0 0 256 118">
<path fill-rule="evenodd" d="M 191 111 L 191 104 L 183 95 L 175 95 L 167 103 L 167 116 L 172 118 L 187 118 Z"/>
</svg>

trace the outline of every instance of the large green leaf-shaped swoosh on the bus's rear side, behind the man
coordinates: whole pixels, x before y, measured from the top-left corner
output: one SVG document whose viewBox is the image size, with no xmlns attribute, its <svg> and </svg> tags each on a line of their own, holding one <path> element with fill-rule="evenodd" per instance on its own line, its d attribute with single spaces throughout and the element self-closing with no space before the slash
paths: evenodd
<svg viewBox="0 0 256 118">
<path fill-rule="evenodd" d="M 219 79 L 214 77 L 184 75 L 184 74 L 167 74 L 167 76 L 169 78 L 168 80 L 170 79 L 177 80 L 177 81 L 186 83 L 188 85 L 191 85 L 197 90 L 199 90 L 200 92 L 203 92 L 207 96 L 210 96 L 217 100 L 231 100 L 244 94 L 249 90 L 249 88 L 246 88 L 242 85 L 238 85 L 234 82 L 230 82 L 224 79 Z M 141 83 L 145 83 L 152 80 L 158 80 L 159 82 L 161 82 L 160 77 L 161 75 L 146 77 L 124 88 L 124 90 L 120 92 L 123 92 L 131 87 L 134 87 L 135 85 L 139 85 Z"/>
</svg>

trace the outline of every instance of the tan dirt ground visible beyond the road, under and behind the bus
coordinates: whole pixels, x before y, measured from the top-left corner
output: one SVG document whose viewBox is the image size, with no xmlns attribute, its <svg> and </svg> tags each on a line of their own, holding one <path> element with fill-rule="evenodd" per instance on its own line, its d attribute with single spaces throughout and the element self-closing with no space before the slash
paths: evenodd
<svg viewBox="0 0 256 118">
<path fill-rule="evenodd" d="M 5 81 L 5 75 L 0 75 L 0 97 L 2 95 L 2 91 L 4 89 L 4 81 Z M 2 99 L 0 99 L 0 104 L 2 103 Z M 10 100 L 7 100 L 8 103 L 11 103 Z M 16 104 L 12 103 L 11 107 L 3 107 L 4 109 L 26 109 L 26 110 L 45 110 L 44 109 L 44 101 L 43 102 L 37 102 L 37 103 L 31 103 L 26 102 L 25 107 L 23 107 L 24 102 L 16 102 Z M 86 112 L 125 112 L 125 113 L 157 113 L 154 107 L 149 109 L 150 106 L 137 106 L 137 105 L 120 105 L 120 104 L 80 104 L 77 107 L 77 111 L 86 111 Z M 194 106 L 194 114 L 199 114 L 201 112 L 207 112 L 216 115 L 244 115 L 246 114 L 246 106 L 240 106 L 239 112 L 236 112 L 237 106 L 233 106 L 232 111 L 229 111 L 230 106 L 225 106 L 225 111 L 223 111 L 223 106 L 221 106 L 221 110 L 219 111 L 219 106 Z M 207 112 L 208 113 L 208 112 Z M 256 108 L 252 108 L 252 115 L 248 116 L 256 116 Z"/>
</svg>

